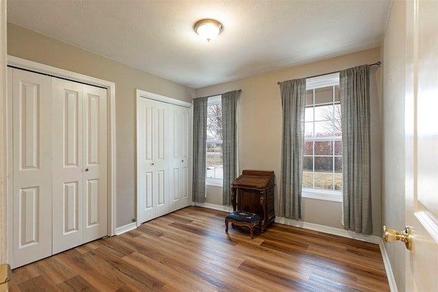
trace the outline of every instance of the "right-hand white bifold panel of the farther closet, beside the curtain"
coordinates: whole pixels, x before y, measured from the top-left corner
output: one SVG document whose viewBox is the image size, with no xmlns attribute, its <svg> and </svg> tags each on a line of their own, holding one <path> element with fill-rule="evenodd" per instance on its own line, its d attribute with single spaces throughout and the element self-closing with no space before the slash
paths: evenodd
<svg viewBox="0 0 438 292">
<path fill-rule="evenodd" d="M 187 207 L 190 180 L 190 109 L 174 105 L 171 107 L 172 155 L 170 155 L 170 212 Z"/>
</svg>

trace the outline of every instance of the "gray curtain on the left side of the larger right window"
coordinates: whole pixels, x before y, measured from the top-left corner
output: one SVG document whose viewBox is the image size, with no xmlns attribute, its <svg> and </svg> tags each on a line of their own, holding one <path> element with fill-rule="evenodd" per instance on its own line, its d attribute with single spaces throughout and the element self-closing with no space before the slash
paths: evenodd
<svg viewBox="0 0 438 292">
<path fill-rule="evenodd" d="M 279 216 L 301 220 L 306 79 L 280 83 L 283 109 Z"/>
</svg>

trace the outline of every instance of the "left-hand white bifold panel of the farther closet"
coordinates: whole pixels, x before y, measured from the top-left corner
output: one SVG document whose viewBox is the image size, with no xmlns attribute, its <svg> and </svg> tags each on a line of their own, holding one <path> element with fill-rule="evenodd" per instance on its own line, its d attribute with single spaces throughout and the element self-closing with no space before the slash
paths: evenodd
<svg viewBox="0 0 438 292">
<path fill-rule="evenodd" d="M 169 213 L 168 104 L 137 98 L 138 224 Z"/>
</svg>

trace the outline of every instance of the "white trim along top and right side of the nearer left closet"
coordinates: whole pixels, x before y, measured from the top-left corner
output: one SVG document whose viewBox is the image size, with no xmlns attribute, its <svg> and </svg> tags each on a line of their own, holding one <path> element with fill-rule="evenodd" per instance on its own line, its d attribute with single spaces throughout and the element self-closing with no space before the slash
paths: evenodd
<svg viewBox="0 0 438 292">
<path fill-rule="evenodd" d="M 8 65 L 107 88 L 108 98 L 108 235 L 116 235 L 116 83 L 8 55 Z M 9 182 L 9 181 L 8 181 Z"/>
</svg>

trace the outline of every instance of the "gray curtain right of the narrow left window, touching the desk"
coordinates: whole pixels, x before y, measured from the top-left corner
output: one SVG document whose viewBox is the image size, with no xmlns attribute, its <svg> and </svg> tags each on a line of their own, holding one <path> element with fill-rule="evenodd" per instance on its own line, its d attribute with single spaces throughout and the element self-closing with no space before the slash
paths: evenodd
<svg viewBox="0 0 438 292">
<path fill-rule="evenodd" d="M 237 103 L 240 91 L 222 94 L 223 204 L 231 204 L 231 183 L 237 177 Z"/>
</svg>

